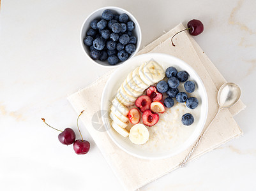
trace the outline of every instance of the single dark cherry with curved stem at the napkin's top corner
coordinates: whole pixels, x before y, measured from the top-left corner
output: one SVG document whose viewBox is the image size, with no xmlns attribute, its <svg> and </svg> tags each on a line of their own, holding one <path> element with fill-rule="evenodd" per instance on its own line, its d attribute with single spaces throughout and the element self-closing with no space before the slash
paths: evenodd
<svg viewBox="0 0 256 191">
<path fill-rule="evenodd" d="M 200 20 L 197 20 L 197 19 L 190 20 L 187 25 L 188 25 L 188 29 L 184 29 L 179 32 L 188 30 L 190 35 L 197 36 L 197 35 L 201 34 L 202 31 L 204 31 L 204 25 L 202 24 L 202 22 L 200 22 Z M 176 34 L 179 34 L 179 32 L 177 32 Z M 174 36 L 176 36 L 176 34 L 174 34 Z M 172 39 L 174 38 L 174 36 L 172 36 Z M 171 41 L 172 41 L 172 39 L 171 39 Z M 172 41 L 172 46 L 175 46 L 173 41 Z"/>
</svg>

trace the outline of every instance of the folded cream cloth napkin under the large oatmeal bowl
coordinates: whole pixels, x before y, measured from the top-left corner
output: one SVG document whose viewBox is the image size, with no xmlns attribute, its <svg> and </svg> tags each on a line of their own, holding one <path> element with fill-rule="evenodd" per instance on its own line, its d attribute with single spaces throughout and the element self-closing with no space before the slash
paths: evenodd
<svg viewBox="0 0 256 191">
<path fill-rule="evenodd" d="M 206 128 L 218 111 L 216 99 L 218 89 L 226 81 L 188 32 L 178 34 L 174 38 L 176 46 L 172 46 L 170 38 L 176 32 L 183 29 L 184 26 L 182 24 L 177 25 L 174 29 L 142 48 L 137 55 L 147 52 L 167 53 L 184 60 L 184 62 L 190 64 L 195 69 L 204 82 L 209 99 Z M 70 95 L 68 100 L 78 114 L 81 110 L 87 109 L 86 115 L 81 116 L 87 131 L 91 134 L 124 188 L 126 190 L 136 190 L 179 167 L 179 163 L 190 151 L 190 148 L 168 159 L 145 160 L 133 157 L 117 147 L 109 138 L 107 132 L 103 131 L 101 118 L 95 121 L 95 117 L 100 115 L 100 99 L 103 88 L 113 71 L 109 71 L 109 73 L 94 81 L 89 87 Z M 222 110 L 213 124 L 211 124 L 211 127 L 209 127 L 190 160 L 196 159 L 202 154 L 230 141 L 230 139 L 241 135 L 242 131 L 232 116 L 243 109 L 245 109 L 245 104 L 240 100 L 231 108 Z"/>
</svg>

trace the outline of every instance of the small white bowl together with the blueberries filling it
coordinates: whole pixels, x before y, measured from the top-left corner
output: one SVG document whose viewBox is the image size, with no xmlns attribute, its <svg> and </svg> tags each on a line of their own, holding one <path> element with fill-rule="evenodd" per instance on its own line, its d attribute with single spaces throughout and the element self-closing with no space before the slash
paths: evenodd
<svg viewBox="0 0 256 191">
<path fill-rule="evenodd" d="M 80 30 L 87 57 L 100 66 L 119 66 L 135 55 L 141 43 L 140 25 L 128 11 L 107 6 L 89 15 Z"/>
</svg>

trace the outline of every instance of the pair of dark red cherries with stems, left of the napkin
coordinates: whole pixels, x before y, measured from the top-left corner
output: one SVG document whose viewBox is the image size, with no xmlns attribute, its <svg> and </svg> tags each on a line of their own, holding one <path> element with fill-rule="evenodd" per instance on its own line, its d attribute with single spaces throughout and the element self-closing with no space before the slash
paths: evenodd
<svg viewBox="0 0 256 191">
<path fill-rule="evenodd" d="M 83 112 L 84 112 L 84 110 L 81 111 L 80 115 L 82 115 Z M 79 115 L 79 117 L 80 117 L 80 115 Z M 78 124 L 79 117 L 77 117 L 77 128 L 78 129 L 79 129 L 79 124 Z M 41 120 L 43 120 L 43 122 L 45 122 L 44 118 L 41 118 Z M 47 123 L 45 122 L 45 124 L 47 124 Z M 48 126 L 51 127 L 52 129 L 55 129 L 54 127 L 52 127 L 50 125 L 48 125 Z M 55 129 L 55 130 L 61 131 L 59 129 Z M 79 133 L 82 138 L 80 129 L 79 129 Z M 64 131 L 61 131 L 61 133 L 58 136 L 58 139 L 64 145 L 71 145 L 73 143 L 73 149 L 75 150 L 75 153 L 77 153 L 77 155 L 84 155 L 87 152 L 89 152 L 90 143 L 88 141 L 84 140 L 83 138 L 75 140 L 75 132 L 71 128 L 66 128 L 66 129 L 64 129 Z"/>
</svg>

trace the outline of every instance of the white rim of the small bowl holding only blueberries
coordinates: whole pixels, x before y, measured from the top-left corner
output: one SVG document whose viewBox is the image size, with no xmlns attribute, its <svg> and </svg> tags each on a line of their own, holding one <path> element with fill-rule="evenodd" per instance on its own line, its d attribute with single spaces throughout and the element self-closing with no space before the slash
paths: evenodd
<svg viewBox="0 0 256 191">
<path fill-rule="evenodd" d="M 137 29 L 138 29 L 138 32 L 139 32 L 138 39 L 137 39 L 137 47 L 136 47 L 135 52 L 133 52 L 133 55 L 130 56 L 127 60 L 132 59 L 132 58 L 137 54 L 137 52 L 139 52 L 140 45 L 141 45 L 141 41 L 142 41 L 142 32 L 141 32 L 141 29 L 140 29 L 140 24 L 139 24 L 138 20 L 132 15 L 132 13 L 130 13 L 130 11 L 124 10 L 123 8 L 120 8 L 120 7 L 117 7 L 117 6 L 105 6 L 105 7 L 102 7 L 102 8 L 98 8 L 97 10 L 94 10 L 91 14 L 89 14 L 89 15 L 86 17 L 86 19 L 84 20 L 84 22 L 82 23 L 82 26 L 81 26 L 81 28 L 80 28 L 80 36 L 79 36 L 79 38 L 80 38 L 80 45 L 81 45 L 81 47 L 82 47 L 83 52 L 86 54 L 87 58 L 88 58 L 89 60 L 91 60 L 94 64 L 97 64 L 98 66 L 102 66 L 102 67 L 106 67 L 106 68 L 109 68 L 109 67 L 118 67 L 118 66 L 120 66 L 121 64 L 123 64 L 124 62 L 126 62 L 126 60 L 123 61 L 123 62 L 119 62 L 119 63 L 116 64 L 116 65 L 109 65 L 109 66 L 108 66 L 108 65 L 100 64 L 100 63 L 96 62 L 95 60 L 93 60 L 93 59 L 88 55 L 88 53 L 86 52 L 86 50 L 85 50 L 85 48 L 84 48 L 84 45 L 83 45 L 84 42 L 83 42 L 83 34 L 82 34 L 82 31 L 83 31 L 83 29 L 84 29 L 84 25 L 86 24 L 87 20 L 88 20 L 94 13 L 96 13 L 96 12 L 98 12 L 98 11 L 101 11 L 101 10 L 102 10 L 102 11 L 103 11 L 103 10 L 120 10 L 120 11 L 123 11 L 124 13 L 128 13 L 128 16 L 131 18 L 131 20 L 132 20 L 133 22 L 135 22 L 135 25 L 137 26 Z"/>
</svg>

